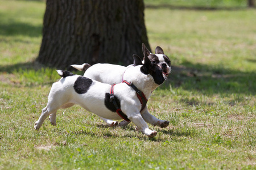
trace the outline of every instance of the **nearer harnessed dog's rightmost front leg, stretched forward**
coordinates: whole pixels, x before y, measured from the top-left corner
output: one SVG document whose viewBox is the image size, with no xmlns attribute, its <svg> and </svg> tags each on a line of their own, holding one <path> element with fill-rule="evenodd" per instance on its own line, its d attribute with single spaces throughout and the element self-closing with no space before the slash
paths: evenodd
<svg viewBox="0 0 256 170">
<path fill-rule="evenodd" d="M 160 128 L 166 128 L 170 124 L 169 121 L 160 120 L 152 114 L 150 114 L 147 111 L 147 108 L 145 108 L 144 111 L 142 111 L 141 115 L 148 124 L 159 126 Z"/>
</svg>

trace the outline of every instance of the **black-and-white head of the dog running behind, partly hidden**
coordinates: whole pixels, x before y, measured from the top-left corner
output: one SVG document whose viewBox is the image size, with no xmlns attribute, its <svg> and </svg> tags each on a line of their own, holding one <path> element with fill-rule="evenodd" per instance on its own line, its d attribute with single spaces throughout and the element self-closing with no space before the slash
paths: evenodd
<svg viewBox="0 0 256 170">
<path fill-rule="evenodd" d="M 144 55 L 143 60 L 145 61 L 146 56 L 152 63 L 157 64 L 163 69 L 163 74 L 168 76 L 171 73 L 171 60 L 164 54 L 163 49 L 160 46 L 156 46 L 155 54 L 152 54 L 144 44 L 142 44 L 142 52 Z"/>
</svg>

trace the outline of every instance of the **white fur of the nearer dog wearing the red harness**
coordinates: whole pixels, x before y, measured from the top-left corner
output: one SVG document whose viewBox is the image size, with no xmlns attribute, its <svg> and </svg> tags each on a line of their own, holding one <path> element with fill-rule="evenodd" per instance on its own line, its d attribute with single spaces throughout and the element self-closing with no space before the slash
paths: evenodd
<svg viewBox="0 0 256 170">
<path fill-rule="evenodd" d="M 151 92 L 159 85 L 154 82 L 150 74 L 145 75 L 140 71 L 141 66 L 129 67 L 126 69 L 126 74 L 123 76 L 128 82 L 132 82 L 138 89 L 141 89 L 148 99 Z M 57 71 L 61 75 L 61 71 Z M 103 73 L 102 73 L 103 74 Z M 48 96 L 47 107 L 43 109 L 39 120 L 35 122 L 35 129 L 42 126 L 43 121 L 49 117 L 51 124 L 56 125 L 56 112 L 60 108 L 71 107 L 74 104 L 79 104 L 87 111 L 93 112 L 100 117 L 106 119 L 120 120 L 121 117 L 105 107 L 105 94 L 110 92 L 110 84 L 101 83 L 92 80 L 93 83 L 85 94 L 77 94 L 74 90 L 74 83 L 79 75 L 67 76 L 53 83 Z M 121 109 L 127 117 L 134 122 L 138 130 L 148 137 L 154 137 L 156 131 L 148 129 L 146 122 L 152 125 L 158 125 L 162 128 L 168 126 L 168 121 L 159 120 L 147 112 L 147 108 L 141 110 L 141 103 L 134 92 L 133 88 L 125 83 L 116 84 L 114 87 L 114 95 L 121 101 Z M 145 122 L 146 121 L 146 122 Z"/>
</svg>

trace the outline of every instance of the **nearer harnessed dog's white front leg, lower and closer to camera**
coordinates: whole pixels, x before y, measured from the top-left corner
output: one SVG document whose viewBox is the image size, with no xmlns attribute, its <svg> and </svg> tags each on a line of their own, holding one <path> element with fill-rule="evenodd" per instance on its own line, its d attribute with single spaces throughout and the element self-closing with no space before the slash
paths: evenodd
<svg viewBox="0 0 256 170">
<path fill-rule="evenodd" d="M 133 113 L 128 114 L 128 118 L 134 122 L 137 126 L 137 129 L 141 131 L 143 134 L 147 135 L 148 137 L 152 138 L 155 137 L 157 132 L 155 130 L 148 129 L 147 123 L 143 120 L 141 113 Z"/>
</svg>

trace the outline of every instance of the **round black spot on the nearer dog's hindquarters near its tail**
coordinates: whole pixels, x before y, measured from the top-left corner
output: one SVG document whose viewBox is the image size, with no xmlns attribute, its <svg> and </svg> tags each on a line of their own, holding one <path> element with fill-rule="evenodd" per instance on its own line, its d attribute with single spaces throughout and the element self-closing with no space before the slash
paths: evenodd
<svg viewBox="0 0 256 170">
<path fill-rule="evenodd" d="M 74 89 L 77 94 L 85 94 L 89 90 L 90 86 L 92 86 L 92 83 L 93 81 L 91 79 L 79 76 L 74 84 Z"/>
</svg>

